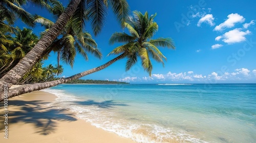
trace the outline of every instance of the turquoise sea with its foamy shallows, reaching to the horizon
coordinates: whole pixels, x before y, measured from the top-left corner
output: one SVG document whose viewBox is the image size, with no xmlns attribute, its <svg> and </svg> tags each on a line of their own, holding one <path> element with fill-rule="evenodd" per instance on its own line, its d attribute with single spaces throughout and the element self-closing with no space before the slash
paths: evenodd
<svg viewBox="0 0 256 143">
<path fill-rule="evenodd" d="M 93 126 L 138 142 L 256 142 L 256 84 L 61 84 L 45 89 Z"/>
</svg>

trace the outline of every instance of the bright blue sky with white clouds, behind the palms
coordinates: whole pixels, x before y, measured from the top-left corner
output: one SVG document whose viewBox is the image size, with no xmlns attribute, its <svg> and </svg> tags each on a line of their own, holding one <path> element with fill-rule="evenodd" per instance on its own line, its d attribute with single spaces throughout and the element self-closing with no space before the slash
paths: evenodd
<svg viewBox="0 0 256 143">
<path fill-rule="evenodd" d="M 256 83 L 256 10 L 253 0 L 127 2 L 131 11 L 157 13 L 155 21 L 159 30 L 154 38 L 171 37 L 176 50 L 159 48 L 167 61 L 165 67 L 153 62 L 152 77 L 144 71 L 140 61 L 126 72 L 126 59 L 122 59 L 82 79 L 130 83 Z M 31 13 L 37 9 L 33 6 L 25 8 Z M 47 12 L 36 12 L 51 18 Z M 92 31 L 89 23 L 86 29 Z M 42 30 L 36 27 L 34 32 L 39 34 Z M 65 68 L 61 76 L 69 77 L 115 58 L 116 55 L 106 57 L 118 45 L 109 45 L 109 38 L 114 32 L 122 31 L 109 11 L 103 30 L 94 36 L 103 54 L 102 60 L 89 56 L 89 61 L 84 61 L 77 55 L 73 69 L 61 63 Z M 56 55 L 51 53 L 45 65 L 56 63 Z"/>
</svg>

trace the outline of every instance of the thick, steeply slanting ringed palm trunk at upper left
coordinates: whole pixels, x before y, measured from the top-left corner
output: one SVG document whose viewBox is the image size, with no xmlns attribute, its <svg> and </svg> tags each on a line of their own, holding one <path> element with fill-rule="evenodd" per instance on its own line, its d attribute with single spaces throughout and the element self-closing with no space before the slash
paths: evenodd
<svg viewBox="0 0 256 143">
<path fill-rule="evenodd" d="M 53 40 L 60 34 L 63 28 L 68 23 L 71 16 L 74 14 L 77 6 L 81 0 L 72 0 L 51 29 L 38 41 L 33 49 L 22 59 L 19 63 L 13 67 L 8 73 L 0 80 L 0 95 L 4 93 L 4 87 L 7 85 L 11 87 L 16 84 L 26 73 L 30 70 L 34 64 L 42 57 L 44 51 L 53 42 Z"/>
</svg>

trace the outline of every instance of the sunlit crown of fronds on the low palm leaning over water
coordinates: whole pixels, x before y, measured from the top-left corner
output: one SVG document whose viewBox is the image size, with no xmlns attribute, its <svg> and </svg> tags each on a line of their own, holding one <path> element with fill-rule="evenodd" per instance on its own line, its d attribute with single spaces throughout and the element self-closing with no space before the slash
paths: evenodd
<svg viewBox="0 0 256 143">
<path fill-rule="evenodd" d="M 156 14 L 149 17 L 147 12 L 144 15 L 139 11 L 134 11 L 133 13 L 134 16 L 124 22 L 124 26 L 131 34 L 114 33 L 110 38 L 110 44 L 116 42 L 125 44 L 116 47 L 110 54 L 126 53 L 128 58 L 125 66 L 126 71 L 137 62 L 139 57 L 142 61 L 142 67 L 151 76 L 153 66 L 150 58 L 162 63 L 163 66 L 163 59 L 167 60 L 158 49 L 158 46 L 168 47 L 168 49 L 175 49 L 175 46 L 170 38 L 152 39 L 158 31 L 158 25 L 154 21 Z"/>
</svg>

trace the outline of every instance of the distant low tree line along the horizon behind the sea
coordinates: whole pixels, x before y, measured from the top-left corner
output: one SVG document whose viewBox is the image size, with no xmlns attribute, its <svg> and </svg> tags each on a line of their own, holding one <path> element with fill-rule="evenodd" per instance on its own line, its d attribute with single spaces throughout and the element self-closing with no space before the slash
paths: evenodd
<svg viewBox="0 0 256 143">
<path fill-rule="evenodd" d="M 127 82 L 118 82 L 118 81 L 107 81 L 107 80 L 82 80 L 82 79 L 75 79 L 72 81 L 67 82 L 69 84 L 129 84 Z"/>
</svg>

